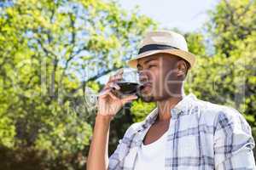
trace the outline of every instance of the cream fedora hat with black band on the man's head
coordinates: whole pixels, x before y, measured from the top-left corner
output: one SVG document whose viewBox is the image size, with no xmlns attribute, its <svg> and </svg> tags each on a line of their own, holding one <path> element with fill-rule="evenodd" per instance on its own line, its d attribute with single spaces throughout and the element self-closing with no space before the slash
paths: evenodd
<svg viewBox="0 0 256 170">
<path fill-rule="evenodd" d="M 160 53 L 173 54 L 183 58 L 189 62 L 190 68 L 195 65 L 195 55 L 189 53 L 185 38 L 174 31 L 148 32 L 139 46 L 137 57 L 129 60 L 127 65 L 137 68 L 137 59 Z"/>
</svg>

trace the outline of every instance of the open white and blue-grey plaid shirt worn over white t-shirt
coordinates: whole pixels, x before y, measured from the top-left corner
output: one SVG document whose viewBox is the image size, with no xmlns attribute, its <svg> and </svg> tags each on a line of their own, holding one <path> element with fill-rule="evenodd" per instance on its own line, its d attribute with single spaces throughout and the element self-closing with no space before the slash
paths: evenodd
<svg viewBox="0 0 256 170">
<path fill-rule="evenodd" d="M 157 114 L 156 108 L 143 122 L 128 128 L 109 157 L 109 170 L 133 169 L 137 150 Z M 256 169 L 251 128 L 235 109 L 189 94 L 170 114 L 165 169 Z"/>
</svg>

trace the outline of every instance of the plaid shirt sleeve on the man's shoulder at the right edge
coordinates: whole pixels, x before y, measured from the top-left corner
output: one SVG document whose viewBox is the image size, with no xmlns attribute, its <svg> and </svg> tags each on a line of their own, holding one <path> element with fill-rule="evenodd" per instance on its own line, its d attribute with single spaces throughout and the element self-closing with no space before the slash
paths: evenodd
<svg viewBox="0 0 256 170">
<path fill-rule="evenodd" d="M 235 109 L 220 111 L 214 133 L 215 169 L 256 169 L 251 127 Z"/>
</svg>

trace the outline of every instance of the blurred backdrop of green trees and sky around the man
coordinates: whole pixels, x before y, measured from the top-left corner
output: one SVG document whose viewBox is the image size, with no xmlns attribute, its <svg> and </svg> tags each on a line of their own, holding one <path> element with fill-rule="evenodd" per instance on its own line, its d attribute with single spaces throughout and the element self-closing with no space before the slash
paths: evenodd
<svg viewBox="0 0 256 170">
<path fill-rule="evenodd" d="M 93 96 L 155 29 L 196 54 L 186 94 L 236 108 L 256 137 L 255 13 L 255 0 L 1 0 L 0 169 L 85 169 Z M 119 111 L 109 155 L 154 107 Z"/>
</svg>

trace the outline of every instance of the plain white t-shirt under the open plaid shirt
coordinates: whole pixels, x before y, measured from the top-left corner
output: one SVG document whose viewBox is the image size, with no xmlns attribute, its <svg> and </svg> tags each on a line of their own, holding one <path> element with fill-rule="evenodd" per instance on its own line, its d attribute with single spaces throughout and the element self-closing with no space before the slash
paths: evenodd
<svg viewBox="0 0 256 170">
<path fill-rule="evenodd" d="M 166 133 L 151 144 L 142 144 L 137 150 L 134 170 L 165 169 Z"/>
</svg>

